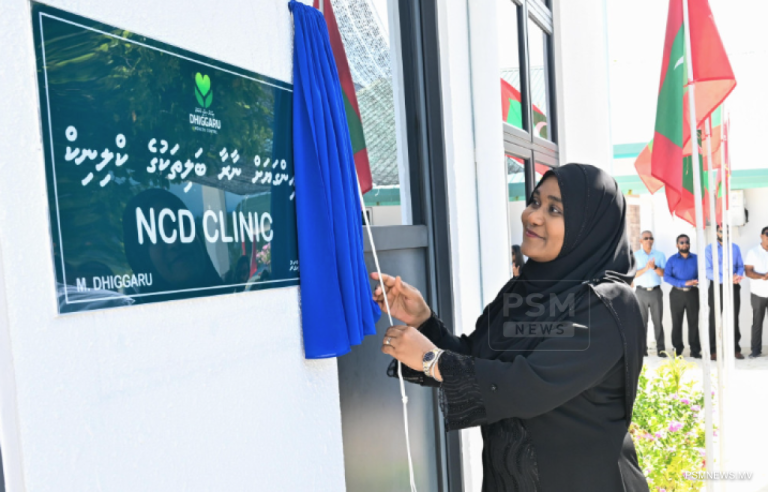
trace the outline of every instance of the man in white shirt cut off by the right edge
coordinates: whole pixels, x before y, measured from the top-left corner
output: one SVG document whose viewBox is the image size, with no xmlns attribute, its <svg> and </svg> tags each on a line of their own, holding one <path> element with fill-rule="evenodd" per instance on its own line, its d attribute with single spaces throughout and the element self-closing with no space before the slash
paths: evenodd
<svg viewBox="0 0 768 492">
<path fill-rule="evenodd" d="M 752 290 L 752 353 L 751 359 L 763 351 L 763 321 L 768 310 L 768 227 L 760 233 L 760 244 L 749 250 L 744 271 Z"/>
</svg>

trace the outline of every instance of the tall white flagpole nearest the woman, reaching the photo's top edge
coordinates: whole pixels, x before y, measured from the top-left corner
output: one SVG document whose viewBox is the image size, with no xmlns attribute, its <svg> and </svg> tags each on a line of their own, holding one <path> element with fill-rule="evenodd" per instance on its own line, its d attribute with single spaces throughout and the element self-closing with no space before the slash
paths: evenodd
<svg viewBox="0 0 768 492">
<path fill-rule="evenodd" d="M 699 169 L 699 146 L 698 138 L 696 137 L 696 99 L 694 92 L 696 86 L 693 82 L 693 57 L 691 56 L 691 30 L 690 21 L 688 19 L 688 2 L 686 0 L 680 0 L 683 3 L 683 22 L 685 28 L 685 52 L 688 58 L 688 111 L 690 120 L 690 132 L 691 132 L 691 158 L 693 159 L 693 197 L 694 197 L 694 210 L 696 217 L 696 248 L 698 250 L 697 263 L 699 268 L 699 338 L 701 340 L 702 348 L 702 366 L 703 366 L 703 378 L 702 385 L 704 389 L 704 428 L 705 428 L 705 467 L 707 470 L 711 470 L 712 466 L 712 381 L 709 364 L 709 327 L 707 323 L 707 293 L 704 290 L 706 285 L 706 263 L 704 261 L 704 250 L 706 248 L 707 240 L 704 235 L 704 211 L 702 210 L 702 190 L 701 190 L 701 170 Z M 707 480 L 707 485 L 712 483 L 711 480 Z"/>
</svg>

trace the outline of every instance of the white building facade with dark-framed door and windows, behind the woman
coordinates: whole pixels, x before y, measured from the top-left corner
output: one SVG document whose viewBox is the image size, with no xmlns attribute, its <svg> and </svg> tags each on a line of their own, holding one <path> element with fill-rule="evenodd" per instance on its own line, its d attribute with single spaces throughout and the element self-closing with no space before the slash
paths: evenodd
<svg viewBox="0 0 768 492">
<path fill-rule="evenodd" d="M 48 4 L 291 82 L 284 0 Z M 605 2 L 333 8 L 361 106 L 382 268 L 469 333 L 511 275 L 524 198 L 541 174 L 611 164 Z M 6 489 L 405 489 L 384 321 L 338 360 L 305 360 L 297 286 L 58 314 L 30 3 L 6 0 L 3 21 Z M 479 490 L 479 431 L 446 434 L 436 394 L 407 391 L 419 490 Z"/>
</svg>

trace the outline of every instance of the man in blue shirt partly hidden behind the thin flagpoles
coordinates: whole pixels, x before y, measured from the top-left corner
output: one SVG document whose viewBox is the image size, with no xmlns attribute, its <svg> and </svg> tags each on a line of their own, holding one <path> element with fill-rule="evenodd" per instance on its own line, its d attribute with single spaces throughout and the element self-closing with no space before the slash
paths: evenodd
<svg viewBox="0 0 768 492">
<path fill-rule="evenodd" d="M 743 359 L 741 355 L 741 332 L 739 331 L 739 310 L 741 309 L 741 280 L 744 278 L 744 261 L 741 259 L 741 249 L 733 244 L 733 339 L 736 349 L 736 358 Z M 704 257 L 707 260 L 707 278 L 709 279 L 709 351 L 710 358 L 717 360 L 717 346 L 715 345 L 715 274 L 712 269 L 712 245 L 708 245 Z M 720 311 L 723 310 L 723 228 L 717 226 L 717 264 L 720 269 Z"/>
</svg>

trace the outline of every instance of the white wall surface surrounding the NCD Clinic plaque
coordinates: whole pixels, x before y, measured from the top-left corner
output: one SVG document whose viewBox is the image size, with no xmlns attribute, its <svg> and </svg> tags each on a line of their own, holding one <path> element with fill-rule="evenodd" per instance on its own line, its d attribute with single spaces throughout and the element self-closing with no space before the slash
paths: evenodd
<svg viewBox="0 0 768 492">
<path fill-rule="evenodd" d="M 285 0 L 48 3 L 291 80 Z M 2 11 L 9 489 L 344 490 L 336 361 L 304 360 L 298 288 L 56 315 L 29 3 Z"/>
</svg>

